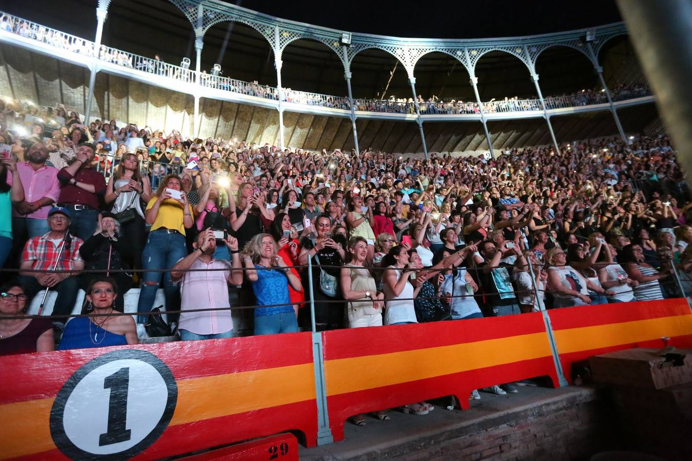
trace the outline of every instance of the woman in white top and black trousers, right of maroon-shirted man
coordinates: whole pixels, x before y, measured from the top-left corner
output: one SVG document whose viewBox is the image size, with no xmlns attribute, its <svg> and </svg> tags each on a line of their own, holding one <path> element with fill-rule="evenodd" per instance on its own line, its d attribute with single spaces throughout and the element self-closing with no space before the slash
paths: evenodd
<svg viewBox="0 0 692 461">
<path fill-rule="evenodd" d="M 140 255 L 143 252 L 146 227 L 142 200 L 148 203 L 151 198 L 152 187 L 149 185 L 149 178 L 142 176 L 140 172 L 137 156 L 126 153 L 108 182 L 104 200 L 107 204 L 112 204 L 111 212 L 120 223 L 122 235 L 127 236 L 132 254 Z M 140 266 L 140 261 L 134 263 L 137 267 Z"/>
</svg>

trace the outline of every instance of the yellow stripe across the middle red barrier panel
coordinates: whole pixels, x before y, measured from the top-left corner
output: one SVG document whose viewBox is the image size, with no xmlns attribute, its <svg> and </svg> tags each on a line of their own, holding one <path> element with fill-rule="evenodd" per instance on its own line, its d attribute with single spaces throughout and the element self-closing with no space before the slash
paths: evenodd
<svg viewBox="0 0 692 461">
<path fill-rule="evenodd" d="M 551 355 L 545 333 L 325 361 L 327 395 L 401 384 Z"/>
</svg>

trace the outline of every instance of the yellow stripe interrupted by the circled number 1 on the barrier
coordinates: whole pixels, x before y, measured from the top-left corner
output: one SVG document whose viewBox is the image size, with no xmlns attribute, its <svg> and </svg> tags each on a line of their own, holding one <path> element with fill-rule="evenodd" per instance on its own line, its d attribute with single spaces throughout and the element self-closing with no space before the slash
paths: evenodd
<svg viewBox="0 0 692 461">
<path fill-rule="evenodd" d="M 170 426 L 315 399 L 312 364 L 264 368 L 178 383 Z M 50 430 L 54 398 L 0 405 L 0 459 L 55 449 Z"/>
</svg>

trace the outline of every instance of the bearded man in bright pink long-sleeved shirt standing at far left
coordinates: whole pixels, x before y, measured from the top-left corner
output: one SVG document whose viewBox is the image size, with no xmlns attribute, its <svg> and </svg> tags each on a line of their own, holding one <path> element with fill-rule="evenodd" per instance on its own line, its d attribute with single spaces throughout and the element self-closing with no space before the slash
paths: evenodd
<svg viewBox="0 0 692 461">
<path fill-rule="evenodd" d="M 60 194 L 57 169 L 46 166 L 46 146 L 36 143 L 24 157 L 26 162 L 17 163 L 19 178 L 24 185 L 24 202 L 12 209 L 12 232 L 15 241 L 22 246 L 28 238 L 48 232 L 48 211 Z"/>
</svg>

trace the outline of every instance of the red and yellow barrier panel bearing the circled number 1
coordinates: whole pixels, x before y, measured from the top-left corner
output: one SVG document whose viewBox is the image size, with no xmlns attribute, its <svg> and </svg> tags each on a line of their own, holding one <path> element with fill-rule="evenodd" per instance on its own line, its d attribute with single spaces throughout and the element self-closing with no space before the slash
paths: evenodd
<svg viewBox="0 0 692 461">
<path fill-rule="evenodd" d="M 310 333 L 0 357 L 0 458 L 157 459 L 285 431 L 316 444 Z"/>
</svg>

